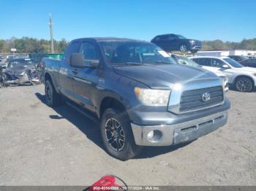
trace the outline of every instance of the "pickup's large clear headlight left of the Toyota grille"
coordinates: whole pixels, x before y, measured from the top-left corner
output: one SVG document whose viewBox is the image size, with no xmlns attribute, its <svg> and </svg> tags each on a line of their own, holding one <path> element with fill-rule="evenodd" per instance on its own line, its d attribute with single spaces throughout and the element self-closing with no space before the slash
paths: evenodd
<svg viewBox="0 0 256 191">
<path fill-rule="evenodd" d="M 137 98 L 145 105 L 167 106 L 170 90 L 151 90 L 135 87 Z"/>
</svg>

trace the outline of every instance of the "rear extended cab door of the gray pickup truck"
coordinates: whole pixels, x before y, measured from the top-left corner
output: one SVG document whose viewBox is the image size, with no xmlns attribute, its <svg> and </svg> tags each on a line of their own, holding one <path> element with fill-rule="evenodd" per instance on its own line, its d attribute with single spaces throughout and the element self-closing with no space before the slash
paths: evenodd
<svg viewBox="0 0 256 191">
<path fill-rule="evenodd" d="M 64 52 L 64 57 L 61 61 L 59 69 L 59 90 L 67 98 L 74 99 L 74 90 L 72 86 L 73 71 L 69 65 L 69 58 L 72 53 L 78 53 L 80 49 L 80 42 L 71 42 Z"/>
</svg>

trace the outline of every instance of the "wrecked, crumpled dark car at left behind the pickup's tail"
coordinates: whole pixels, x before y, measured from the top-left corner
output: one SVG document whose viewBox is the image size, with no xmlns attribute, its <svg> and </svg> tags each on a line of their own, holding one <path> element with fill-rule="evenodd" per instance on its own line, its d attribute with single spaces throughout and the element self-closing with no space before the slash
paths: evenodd
<svg viewBox="0 0 256 191">
<path fill-rule="evenodd" d="M 37 65 L 30 58 L 13 58 L 7 61 L 4 69 L 4 83 L 9 85 L 32 85 L 38 84 Z"/>
</svg>

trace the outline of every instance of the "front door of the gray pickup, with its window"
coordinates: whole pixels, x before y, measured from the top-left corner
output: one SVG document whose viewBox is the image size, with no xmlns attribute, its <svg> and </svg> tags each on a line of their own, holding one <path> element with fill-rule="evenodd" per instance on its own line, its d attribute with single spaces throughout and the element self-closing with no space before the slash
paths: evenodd
<svg viewBox="0 0 256 191">
<path fill-rule="evenodd" d="M 96 112 L 92 99 L 99 79 L 99 66 L 92 68 L 89 66 L 89 62 L 100 61 L 99 49 L 93 42 L 82 42 L 80 53 L 84 55 L 86 67 L 76 69 L 78 72 L 74 74 L 74 98 L 81 106 L 91 112 Z"/>
</svg>

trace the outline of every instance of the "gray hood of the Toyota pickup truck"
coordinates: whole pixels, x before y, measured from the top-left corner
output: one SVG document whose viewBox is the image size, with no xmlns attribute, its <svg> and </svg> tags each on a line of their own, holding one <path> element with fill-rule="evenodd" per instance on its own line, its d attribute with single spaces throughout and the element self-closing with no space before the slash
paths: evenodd
<svg viewBox="0 0 256 191">
<path fill-rule="evenodd" d="M 117 74 L 134 79 L 151 88 L 170 89 L 176 83 L 218 79 L 211 71 L 178 64 L 115 67 Z"/>
</svg>

